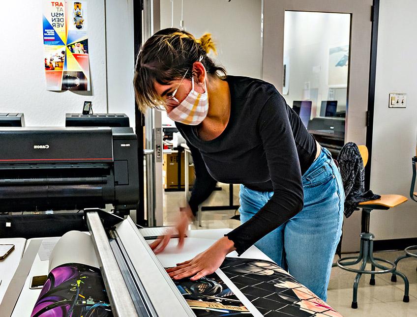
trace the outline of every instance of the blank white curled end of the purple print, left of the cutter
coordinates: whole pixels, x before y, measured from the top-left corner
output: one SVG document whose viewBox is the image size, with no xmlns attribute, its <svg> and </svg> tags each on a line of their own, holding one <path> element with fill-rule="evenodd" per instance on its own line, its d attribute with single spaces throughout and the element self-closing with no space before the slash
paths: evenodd
<svg viewBox="0 0 417 317">
<path fill-rule="evenodd" d="M 49 271 L 66 263 L 99 267 L 91 236 L 81 231 L 68 231 L 55 245 L 49 257 Z"/>
</svg>

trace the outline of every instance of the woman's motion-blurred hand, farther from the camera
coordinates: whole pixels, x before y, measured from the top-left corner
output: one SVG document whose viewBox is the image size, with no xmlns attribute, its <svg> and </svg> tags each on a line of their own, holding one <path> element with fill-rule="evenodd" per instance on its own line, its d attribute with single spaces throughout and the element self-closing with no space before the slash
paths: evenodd
<svg viewBox="0 0 417 317">
<path fill-rule="evenodd" d="M 186 207 L 179 208 L 179 219 L 177 221 L 176 230 L 178 231 L 179 241 L 178 247 L 182 248 L 184 245 L 184 237 L 185 233 L 187 232 L 188 224 L 193 218 L 193 212 L 191 211 L 190 205 Z M 167 246 L 171 236 L 175 234 L 175 230 L 171 230 L 167 232 L 167 234 L 159 236 L 153 243 L 150 245 L 150 248 L 153 250 L 154 254 L 161 253 L 164 251 L 165 247 Z"/>
</svg>

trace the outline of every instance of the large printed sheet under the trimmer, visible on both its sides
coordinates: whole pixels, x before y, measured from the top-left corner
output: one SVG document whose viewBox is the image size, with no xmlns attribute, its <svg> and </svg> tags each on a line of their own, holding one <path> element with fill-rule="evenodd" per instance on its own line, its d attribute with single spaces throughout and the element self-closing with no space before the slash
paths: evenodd
<svg viewBox="0 0 417 317">
<path fill-rule="evenodd" d="M 60 238 L 31 317 L 113 316 L 93 249 L 84 232 L 69 231 Z M 173 282 L 197 317 L 341 317 L 288 272 L 266 260 L 226 258 L 213 274 L 197 281 Z"/>
</svg>

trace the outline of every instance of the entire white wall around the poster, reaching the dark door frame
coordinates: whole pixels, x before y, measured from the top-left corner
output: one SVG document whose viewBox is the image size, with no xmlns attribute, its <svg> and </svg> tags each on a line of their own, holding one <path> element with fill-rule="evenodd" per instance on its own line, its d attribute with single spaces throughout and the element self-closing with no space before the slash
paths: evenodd
<svg viewBox="0 0 417 317">
<path fill-rule="evenodd" d="M 42 0 L 2 1 L 0 112 L 23 112 L 27 126 L 64 126 L 65 113 L 91 100 L 94 113 L 126 113 L 134 125 L 132 1 L 106 1 L 106 62 L 105 1 L 89 0 L 91 92 L 46 90 Z"/>
</svg>

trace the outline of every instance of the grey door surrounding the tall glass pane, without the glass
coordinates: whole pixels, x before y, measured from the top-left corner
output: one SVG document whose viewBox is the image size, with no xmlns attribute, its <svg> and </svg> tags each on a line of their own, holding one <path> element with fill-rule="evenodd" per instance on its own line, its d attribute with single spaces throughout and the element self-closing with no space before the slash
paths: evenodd
<svg viewBox="0 0 417 317">
<path fill-rule="evenodd" d="M 282 91 L 283 78 L 285 11 L 351 15 L 345 142 L 366 144 L 368 147 L 369 163 L 365 169 L 365 187 L 369 189 L 379 0 L 263 0 L 263 8 L 262 76 L 279 91 Z M 348 236 L 347 240 L 355 239 L 363 231 L 360 228 L 360 214 L 354 214 L 345 223 L 347 226 L 344 235 Z M 346 251 L 359 249 L 358 239 L 356 240 L 357 244 L 349 245 Z"/>
</svg>

